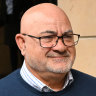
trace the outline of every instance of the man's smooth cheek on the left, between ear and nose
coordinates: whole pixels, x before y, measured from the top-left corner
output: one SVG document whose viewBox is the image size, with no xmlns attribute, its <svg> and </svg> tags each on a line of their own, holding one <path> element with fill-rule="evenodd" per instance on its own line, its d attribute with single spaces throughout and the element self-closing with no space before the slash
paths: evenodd
<svg viewBox="0 0 96 96">
<path fill-rule="evenodd" d="M 49 49 L 42 48 L 37 41 L 29 40 L 26 45 L 26 57 L 28 56 L 30 59 L 35 59 L 39 62 L 46 62 L 46 53 Z"/>
</svg>

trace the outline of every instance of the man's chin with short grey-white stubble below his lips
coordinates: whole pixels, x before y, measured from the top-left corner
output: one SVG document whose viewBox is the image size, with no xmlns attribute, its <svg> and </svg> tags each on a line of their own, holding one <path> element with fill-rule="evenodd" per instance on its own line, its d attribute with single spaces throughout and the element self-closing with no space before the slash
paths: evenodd
<svg viewBox="0 0 96 96">
<path fill-rule="evenodd" d="M 74 60 L 69 58 L 66 59 L 53 59 L 51 62 L 47 63 L 47 69 L 54 73 L 67 73 L 72 68 Z"/>
</svg>

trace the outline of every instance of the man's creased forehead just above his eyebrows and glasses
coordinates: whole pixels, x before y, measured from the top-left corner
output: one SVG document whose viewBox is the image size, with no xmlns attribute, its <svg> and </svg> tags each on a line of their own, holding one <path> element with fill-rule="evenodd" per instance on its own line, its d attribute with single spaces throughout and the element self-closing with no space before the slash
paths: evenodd
<svg viewBox="0 0 96 96">
<path fill-rule="evenodd" d="M 64 21 L 35 22 L 34 25 L 30 27 L 29 34 L 51 34 L 51 31 L 55 32 L 56 34 L 63 34 L 69 30 L 72 30 L 70 23 Z"/>
</svg>

